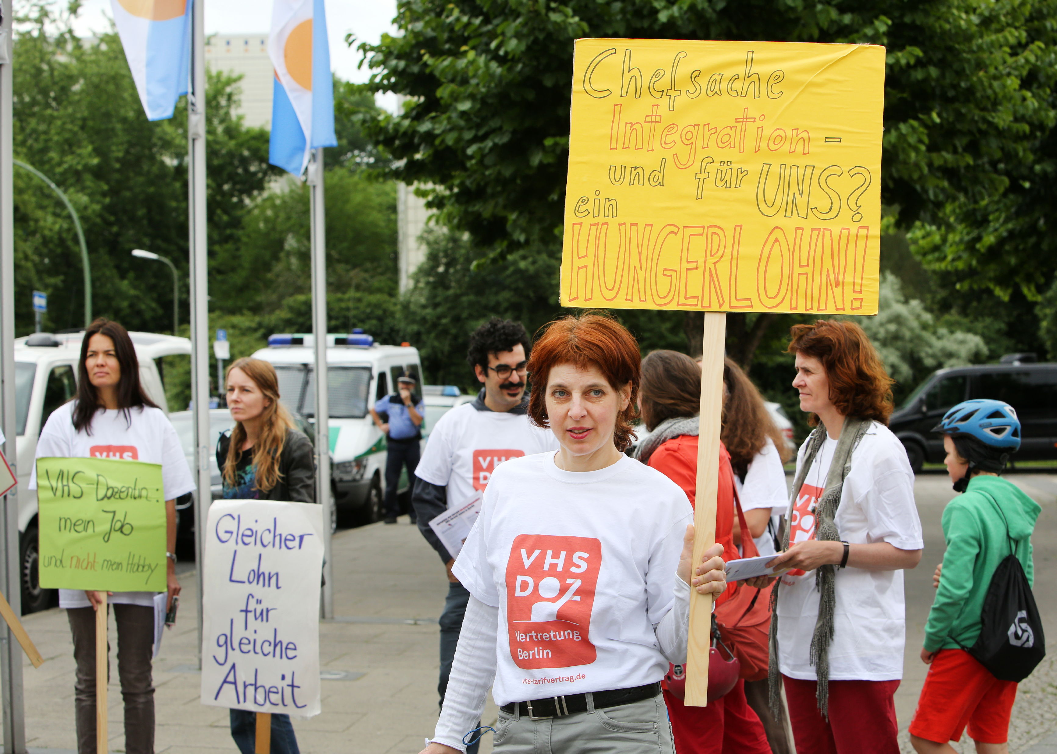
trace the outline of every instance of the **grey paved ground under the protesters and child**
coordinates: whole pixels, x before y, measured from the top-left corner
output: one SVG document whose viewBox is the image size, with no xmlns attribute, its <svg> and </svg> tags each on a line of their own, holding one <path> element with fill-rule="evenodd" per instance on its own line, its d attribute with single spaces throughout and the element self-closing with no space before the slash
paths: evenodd
<svg viewBox="0 0 1057 754">
<path fill-rule="evenodd" d="M 1013 754 L 1057 754 L 1057 474 L 1013 474 L 1009 478 L 1043 509 L 1034 539 L 1035 593 L 1051 651 L 1021 684 L 1009 750 Z M 922 565 L 906 575 L 907 652 L 904 681 L 895 698 L 901 744 L 908 754 L 912 749 L 906 728 L 925 679 L 926 666 L 917 654 L 932 602 L 931 573 L 944 549 L 940 516 L 953 495 L 945 476 L 917 477 L 915 497 L 926 550 Z M 435 620 L 447 592 L 444 569 L 406 517 L 397 526 L 375 523 L 339 532 L 333 556 L 337 620 L 320 625 L 320 662 L 324 674 L 340 672 L 344 680 L 323 682 L 320 715 L 294 721 L 301 751 L 415 754 L 437 719 Z M 233 754 L 237 749 L 226 710 L 200 703 L 199 675 L 189 672 L 197 659 L 193 575 L 185 573 L 181 583 L 180 621 L 166 632 L 154 663 L 156 751 Z M 76 746 L 74 663 L 66 615 L 58 609 L 48 610 L 26 617 L 25 626 L 48 660 L 39 669 L 23 663 L 27 744 L 34 754 L 66 754 Z M 109 711 L 111 750 L 123 752 L 116 678 L 110 685 Z M 495 719 L 489 698 L 485 724 Z M 482 754 L 490 752 L 490 744 L 486 735 Z M 962 750 L 972 751 L 971 743 L 966 746 L 963 739 Z"/>
</svg>

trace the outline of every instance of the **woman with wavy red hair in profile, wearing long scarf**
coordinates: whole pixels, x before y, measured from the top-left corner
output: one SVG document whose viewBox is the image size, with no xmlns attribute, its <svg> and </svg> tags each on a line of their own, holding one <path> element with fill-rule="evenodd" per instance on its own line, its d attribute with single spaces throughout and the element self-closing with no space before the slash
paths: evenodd
<svg viewBox="0 0 1057 754">
<path fill-rule="evenodd" d="M 800 409 L 817 425 L 797 457 L 775 588 L 772 705 L 785 685 L 797 751 L 896 754 L 903 569 L 921 560 L 913 473 L 888 429 L 891 379 L 861 328 L 796 325 Z"/>
</svg>

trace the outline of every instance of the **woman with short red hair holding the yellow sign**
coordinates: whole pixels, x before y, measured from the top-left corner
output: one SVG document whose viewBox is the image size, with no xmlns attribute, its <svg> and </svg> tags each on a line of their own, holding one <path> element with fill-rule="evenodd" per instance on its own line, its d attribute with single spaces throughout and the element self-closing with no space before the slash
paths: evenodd
<svg viewBox="0 0 1057 754">
<path fill-rule="evenodd" d="M 686 495 L 623 453 L 639 384 L 627 330 L 559 319 L 528 372 L 530 417 L 560 447 L 492 475 L 452 569 L 471 596 L 425 753 L 465 751 L 492 686 L 496 751 L 671 754 L 660 681 L 685 661 L 691 580 L 726 587 L 722 547 L 691 574 Z"/>
</svg>

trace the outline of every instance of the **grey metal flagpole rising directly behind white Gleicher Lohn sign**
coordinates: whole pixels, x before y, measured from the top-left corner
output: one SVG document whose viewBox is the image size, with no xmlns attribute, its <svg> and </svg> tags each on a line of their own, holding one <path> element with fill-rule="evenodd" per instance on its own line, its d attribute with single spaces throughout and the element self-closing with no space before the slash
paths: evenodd
<svg viewBox="0 0 1057 754">
<path fill-rule="evenodd" d="M 316 501 L 323 507 L 323 618 L 334 618 L 334 558 L 331 556 L 330 401 L 327 390 L 327 209 L 323 204 L 323 150 L 309 162 L 312 228 L 312 335 L 316 351 Z"/>
</svg>

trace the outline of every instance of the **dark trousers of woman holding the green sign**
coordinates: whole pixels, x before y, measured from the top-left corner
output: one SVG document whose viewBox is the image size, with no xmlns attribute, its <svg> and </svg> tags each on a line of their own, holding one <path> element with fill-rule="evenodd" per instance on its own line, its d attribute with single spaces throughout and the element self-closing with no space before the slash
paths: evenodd
<svg viewBox="0 0 1057 754">
<path fill-rule="evenodd" d="M 154 684 L 150 675 L 154 609 L 142 605 L 113 605 L 113 609 L 117 623 L 117 677 L 125 701 L 125 751 L 127 754 L 154 754 Z M 70 608 L 67 618 L 73 633 L 73 657 L 77 662 L 74 682 L 77 752 L 96 754 L 95 610 Z M 109 644 L 107 649 L 109 660 Z"/>
</svg>

